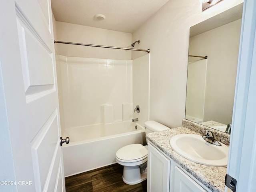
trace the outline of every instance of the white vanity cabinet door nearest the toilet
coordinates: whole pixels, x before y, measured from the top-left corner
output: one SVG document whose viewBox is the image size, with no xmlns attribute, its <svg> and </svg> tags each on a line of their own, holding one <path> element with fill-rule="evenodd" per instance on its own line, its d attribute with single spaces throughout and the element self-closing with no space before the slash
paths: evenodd
<svg viewBox="0 0 256 192">
<path fill-rule="evenodd" d="M 148 144 L 148 192 L 169 192 L 170 160 Z"/>
</svg>

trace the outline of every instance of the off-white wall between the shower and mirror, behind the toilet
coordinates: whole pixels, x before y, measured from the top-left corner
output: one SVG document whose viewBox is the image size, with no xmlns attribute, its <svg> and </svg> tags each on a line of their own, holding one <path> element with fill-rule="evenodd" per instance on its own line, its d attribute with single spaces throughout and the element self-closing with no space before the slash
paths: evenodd
<svg viewBox="0 0 256 192">
<path fill-rule="evenodd" d="M 189 28 L 242 0 L 225 0 L 201 13 L 200 0 L 170 0 L 132 34 L 150 49 L 150 120 L 169 127 L 185 117 Z M 143 53 L 132 52 L 132 58 Z"/>
</svg>

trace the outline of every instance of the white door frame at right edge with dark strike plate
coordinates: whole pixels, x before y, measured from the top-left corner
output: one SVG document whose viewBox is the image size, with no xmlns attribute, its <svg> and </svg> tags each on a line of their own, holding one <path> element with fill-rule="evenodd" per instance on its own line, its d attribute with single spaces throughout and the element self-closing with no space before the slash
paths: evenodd
<svg viewBox="0 0 256 192">
<path fill-rule="evenodd" d="M 244 0 L 227 174 L 256 191 L 256 1 Z"/>
</svg>

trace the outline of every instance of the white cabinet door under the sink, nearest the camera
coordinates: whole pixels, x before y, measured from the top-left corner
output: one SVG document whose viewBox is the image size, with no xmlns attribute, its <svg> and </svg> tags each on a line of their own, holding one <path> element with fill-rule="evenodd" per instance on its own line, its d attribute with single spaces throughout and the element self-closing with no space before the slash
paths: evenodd
<svg viewBox="0 0 256 192">
<path fill-rule="evenodd" d="M 177 166 L 175 166 L 174 172 L 174 192 L 206 192 Z"/>
</svg>

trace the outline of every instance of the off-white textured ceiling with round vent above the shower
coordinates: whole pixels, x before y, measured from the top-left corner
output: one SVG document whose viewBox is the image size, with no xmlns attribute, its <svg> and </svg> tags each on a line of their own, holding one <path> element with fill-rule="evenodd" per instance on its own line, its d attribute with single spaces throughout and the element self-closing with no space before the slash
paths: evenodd
<svg viewBox="0 0 256 192">
<path fill-rule="evenodd" d="M 168 0 L 51 0 L 56 21 L 132 33 Z M 104 20 L 94 15 L 103 14 Z"/>
</svg>

